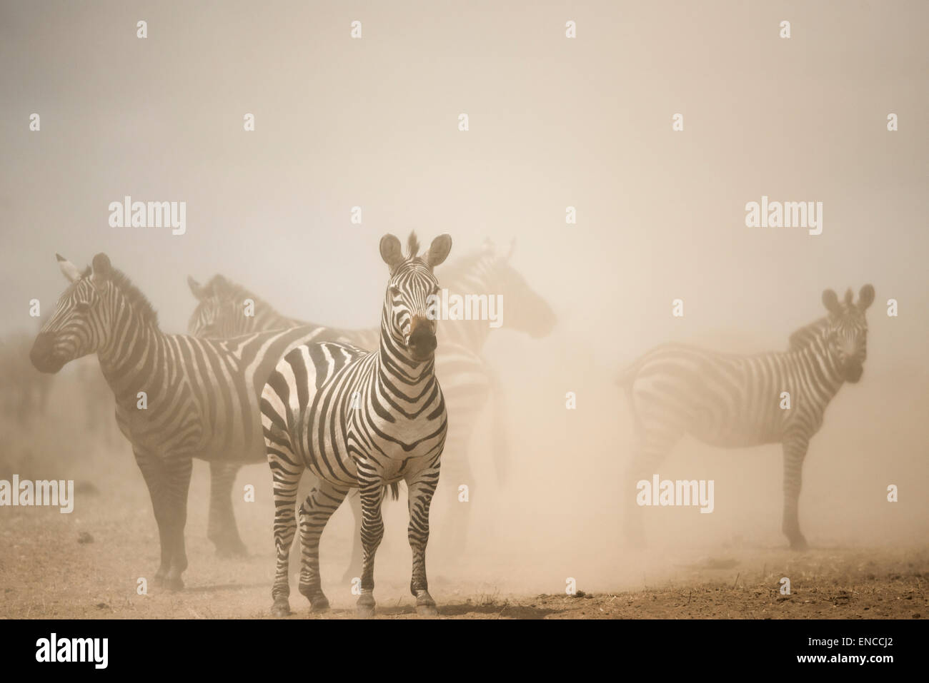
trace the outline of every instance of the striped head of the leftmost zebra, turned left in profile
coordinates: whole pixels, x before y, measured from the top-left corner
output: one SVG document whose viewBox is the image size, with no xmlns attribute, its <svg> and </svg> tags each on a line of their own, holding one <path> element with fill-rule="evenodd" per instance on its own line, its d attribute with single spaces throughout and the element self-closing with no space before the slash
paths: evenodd
<svg viewBox="0 0 929 683">
<path fill-rule="evenodd" d="M 33 342 L 29 357 L 36 369 L 58 372 L 75 358 L 107 348 L 117 324 L 123 324 L 127 332 L 134 334 L 127 327 L 134 315 L 157 328 L 151 304 L 127 277 L 111 266 L 105 253 L 98 253 L 84 273 L 59 254 L 55 256 L 71 285 Z M 129 334 L 120 341 L 129 342 Z"/>
</svg>

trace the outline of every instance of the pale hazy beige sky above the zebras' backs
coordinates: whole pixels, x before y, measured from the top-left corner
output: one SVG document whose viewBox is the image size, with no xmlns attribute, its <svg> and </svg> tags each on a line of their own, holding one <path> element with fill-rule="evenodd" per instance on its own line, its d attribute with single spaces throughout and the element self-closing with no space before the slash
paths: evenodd
<svg viewBox="0 0 929 683">
<path fill-rule="evenodd" d="M 780 348 L 824 288 L 865 282 L 870 350 L 922 361 L 929 6 L 760 5 L 4 0 L 2 330 L 58 297 L 56 251 L 106 251 L 166 331 L 186 276 L 216 272 L 373 325 L 378 238 L 416 229 L 451 233 L 452 261 L 517 238 L 559 330 L 596 329 L 607 365 L 719 329 Z M 187 233 L 109 226 L 125 195 L 186 201 Z M 763 195 L 822 201 L 822 235 L 746 227 Z"/>
</svg>

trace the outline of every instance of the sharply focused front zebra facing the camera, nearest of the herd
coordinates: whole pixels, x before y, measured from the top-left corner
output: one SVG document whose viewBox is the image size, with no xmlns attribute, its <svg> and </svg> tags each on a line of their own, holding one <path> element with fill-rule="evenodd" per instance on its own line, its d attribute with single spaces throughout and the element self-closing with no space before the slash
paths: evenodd
<svg viewBox="0 0 929 683">
<path fill-rule="evenodd" d="M 271 589 L 273 616 L 290 613 L 288 564 L 297 526 L 297 486 L 303 470 L 318 483 L 300 507 L 299 590 L 313 612 L 324 612 L 320 536 L 347 496 L 360 489 L 363 560 L 358 613 L 374 613 L 374 553 L 384 535 L 381 503 L 386 484 L 405 481 L 412 548 L 410 590 L 416 612 L 436 614 L 425 575 L 429 506 L 448 426 L 435 369 L 436 316 L 427 298 L 438 292 L 433 269 L 445 261 L 451 237 L 440 235 L 418 256 L 415 233 L 404 257 L 399 239 L 381 238 L 390 277 L 377 351 L 340 342 L 314 342 L 286 354 L 261 393 L 268 465 L 274 481 L 277 571 Z"/>
</svg>

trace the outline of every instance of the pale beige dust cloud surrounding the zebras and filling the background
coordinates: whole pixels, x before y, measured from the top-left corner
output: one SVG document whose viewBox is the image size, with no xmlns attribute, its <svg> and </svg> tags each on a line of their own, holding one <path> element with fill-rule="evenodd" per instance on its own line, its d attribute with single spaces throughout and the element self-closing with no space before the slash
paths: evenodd
<svg viewBox="0 0 929 683">
<path fill-rule="evenodd" d="M 5 377 L 17 380 L 5 382 L 0 479 L 72 478 L 84 483 L 78 510 L 84 491 L 114 517 L 132 511 L 154 569 L 149 496 L 96 359 L 65 367 L 45 404 L 20 390 L 40 381 L 14 370 L 28 367 L 22 339 L 38 329 L 29 302 L 49 315 L 65 288 L 56 252 L 80 266 L 108 253 L 166 332 L 186 330 L 186 277 L 216 273 L 287 316 L 370 328 L 387 277 L 378 239 L 414 229 L 424 242 L 451 234 L 448 264 L 487 238 L 513 241 L 509 265 L 557 319 L 541 339 L 521 334 L 507 325 L 520 302 L 504 292 L 504 324 L 481 350 L 498 391 L 467 452 L 445 455 L 470 463 L 470 499 L 459 503 L 463 482 L 443 476 L 433 505 L 428 568 L 446 595 L 558 593 L 568 577 L 584 589 L 642 586 L 682 564 L 786 548 L 780 446 L 690 437 L 658 473 L 713 480 L 713 513 L 647 509 L 648 548 L 627 547 L 633 425 L 614 379 L 661 342 L 786 350 L 825 315 L 822 290 L 866 283 L 876 299 L 864 374 L 810 444 L 801 526 L 814 548 L 924 545 L 929 137 L 917 120 L 929 95 L 912 85 L 927 66 L 927 6 L 792 6 L 789 41 L 777 13 L 739 2 L 585 3 L 570 10 L 576 40 L 564 37 L 563 7 L 536 4 L 472 3 L 453 17 L 379 3 L 294 5 L 283 17 L 252 3 L 145 9 L 145 40 L 137 11 L 119 3 L 3 9 L 0 333 Z M 33 111 L 40 133 L 27 130 Z M 248 112 L 254 133 L 242 130 Z M 674 133 L 677 112 L 685 127 Z M 126 195 L 186 201 L 185 234 L 111 227 L 107 207 Z M 745 205 L 762 197 L 823 202 L 822 234 L 747 227 Z M 672 316 L 674 299 L 684 316 Z M 246 483 L 254 504 L 239 495 Z M 267 466 L 241 470 L 233 491 L 246 546 L 268 557 L 269 590 Z M 197 461 L 189 545 L 208 544 L 207 496 Z M 462 546 L 446 530 L 464 506 Z M 403 583 L 405 496 L 385 504 L 385 523 L 377 576 Z M 323 535 L 324 586 L 345 569 L 352 526 L 344 506 Z M 0 528 L 16 539 L 2 511 Z M 191 561 L 186 575 L 197 573 Z"/>
</svg>

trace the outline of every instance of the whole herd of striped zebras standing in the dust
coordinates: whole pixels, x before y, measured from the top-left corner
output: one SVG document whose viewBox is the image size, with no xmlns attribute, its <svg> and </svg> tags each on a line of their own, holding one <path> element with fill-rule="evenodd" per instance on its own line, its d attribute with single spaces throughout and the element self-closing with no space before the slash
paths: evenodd
<svg viewBox="0 0 929 683">
<path fill-rule="evenodd" d="M 76 358 L 98 355 L 115 397 L 117 424 L 149 488 L 161 540 L 156 585 L 183 587 L 191 458 L 210 463 L 208 535 L 219 554 L 244 551 L 231 504 L 236 472 L 266 459 L 275 509 L 273 615 L 290 612 L 288 565 L 297 530 L 299 590 L 314 612 L 328 608 L 319 542 L 346 497 L 358 526 L 347 575 L 360 564 L 357 609 L 363 616 L 373 614 L 373 563 L 384 533 L 381 506 L 387 488 L 396 497 L 400 482 L 409 501 L 410 589 L 417 612 L 436 613 L 425 547 L 442 453 L 451 455 L 455 483 L 472 481 L 467 444 L 482 408 L 491 396 L 499 398 L 499 388 L 481 354 L 490 329 L 486 322 L 438 326 L 428 311 L 429 297 L 439 290 L 433 270 L 448 257 L 451 238 L 439 236 L 424 253 L 419 250 L 415 235 L 405 254 L 398 238 L 381 239 L 388 282 L 378 329 L 332 329 L 281 316 L 217 276 L 205 286 L 189 280 L 198 299 L 190 335 L 162 332 L 149 301 L 106 254 L 95 256 L 84 272 L 58 256 L 71 284 L 30 356 L 34 367 L 54 373 Z M 485 248 L 450 266 L 449 287 L 503 292 L 512 312 L 509 327 L 543 337 L 554 328 L 555 316 L 508 260 L 509 251 Z M 254 316 L 243 315 L 245 299 L 255 303 Z M 826 290 L 828 315 L 795 332 L 784 353 L 727 355 L 674 344 L 635 361 L 619 379 L 636 433 L 626 483 L 656 471 L 686 433 L 724 447 L 781 443 L 783 532 L 792 548 L 805 547 L 797 502 L 806 448 L 831 397 L 845 381 L 861 376 L 865 311 L 873 299 L 870 285 L 860 290 L 857 303 L 851 290 L 844 302 Z M 792 396 L 790 410 L 779 407 L 783 393 Z M 501 419 L 500 410 L 494 419 Z M 499 423 L 498 432 L 503 432 Z M 311 488 L 297 514 L 298 486 L 305 477 Z M 635 500 L 625 488 L 625 499 Z M 349 495 L 352 490 L 358 495 Z M 638 511 L 626 515 L 633 541 L 643 536 Z M 455 547 L 463 548 L 466 515 L 452 517 L 458 520 L 451 531 L 459 541 Z"/>
</svg>

